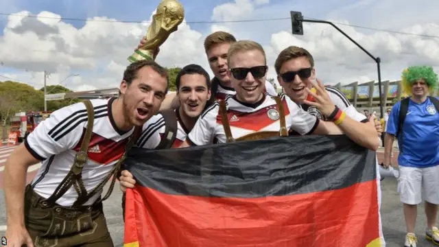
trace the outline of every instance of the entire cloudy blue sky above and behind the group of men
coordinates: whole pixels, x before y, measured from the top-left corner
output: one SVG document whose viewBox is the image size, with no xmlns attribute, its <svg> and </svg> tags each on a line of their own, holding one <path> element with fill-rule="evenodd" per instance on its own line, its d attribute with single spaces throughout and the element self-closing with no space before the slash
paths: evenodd
<svg viewBox="0 0 439 247">
<path fill-rule="evenodd" d="M 32 15 L 36 15 L 46 11 L 58 14 L 63 18 L 87 19 L 104 16 L 119 21 L 147 21 L 160 1 L 0 0 L 0 13 L 29 11 Z M 192 22 L 213 21 L 213 10 L 219 5 L 224 7 L 224 3 L 247 1 L 254 3 L 264 0 L 180 1 L 185 7 L 186 21 Z M 399 3 L 398 8 L 395 8 L 396 3 Z M 238 11 L 239 8 L 227 9 L 226 11 L 223 9 L 222 14 L 219 14 L 219 19 L 289 18 L 289 11 L 296 10 L 302 12 L 306 17 L 316 19 L 330 19 L 337 22 L 348 21 L 353 25 L 375 27 L 383 30 L 439 35 L 438 8 L 439 1 L 431 0 L 418 0 L 417 2 L 410 0 L 270 0 L 268 4 L 256 5 L 255 9 L 250 12 L 246 10 Z M 235 11 L 236 13 L 233 13 Z M 407 18 L 408 16 L 416 16 L 416 18 Z M 17 19 L 20 18 L 17 17 L 14 21 Z M 63 19 L 62 22 L 75 27 L 75 30 L 70 30 L 66 25 L 60 25 L 60 28 L 61 26 L 64 28 L 64 32 L 62 35 L 57 36 L 62 39 L 61 41 L 64 44 L 73 45 L 73 47 L 78 45 L 78 49 L 69 50 L 71 53 L 63 52 L 58 48 L 54 51 L 54 40 L 50 40 L 50 38 L 36 38 L 36 36 L 26 35 L 26 33 L 20 33 L 16 30 L 5 29 L 8 16 L 0 15 L 0 45 L 3 46 L 0 47 L 0 59 L 5 61 L 5 65 L 0 67 L 0 74 L 17 75 L 16 78 L 18 79 L 38 82 L 39 84 L 41 75 L 39 75 L 40 78 L 38 78 L 38 75 L 32 78 L 32 76 L 29 76 L 32 73 L 25 71 L 25 69 L 42 71 L 49 68 L 51 71 L 58 71 L 58 65 L 62 65 L 72 69 L 71 73 L 78 72 L 84 76 L 82 80 L 84 84 L 95 83 L 97 79 L 106 84 L 110 75 L 116 75 L 116 78 L 119 78 L 121 70 L 126 65 L 127 54 L 132 52 L 132 49 L 138 43 L 139 37 L 147 31 L 146 28 L 143 29 L 141 26 L 134 24 L 111 26 L 95 22 L 88 23 L 86 28 L 82 29 L 86 25 L 85 21 Z M 38 27 L 30 24 L 27 23 L 27 33 L 34 34 L 32 28 L 37 29 Z M 57 26 L 58 24 L 52 23 L 51 25 Z M 373 61 L 357 47 L 351 47 L 353 44 L 349 40 L 328 25 L 306 25 L 304 36 L 291 35 L 292 27 L 289 19 L 252 23 L 220 23 L 219 26 L 222 26 L 221 29 L 230 30 L 238 39 L 256 40 L 270 49 L 267 51 L 268 56 L 270 56 L 268 60 L 271 63 L 274 62 L 276 54 L 281 49 L 288 45 L 299 45 L 311 50 L 314 54 L 316 66 L 319 69 L 318 74 L 324 76 L 324 80 L 330 82 L 338 80 L 346 82 L 376 80 L 376 65 Z M 108 30 L 102 27 L 108 27 Z M 211 33 L 213 25 L 211 23 L 189 23 L 189 27 L 189 29 L 186 28 L 186 31 L 180 32 L 174 41 L 167 41 L 167 44 L 174 44 L 174 47 L 161 50 L 159 60 L 165 66 L 182 66 L 181 64 L 185 62 L 196 62 L 202 64 L 202 66 L 207 66 L 204 51 L 199 47 L 202 47 L 202 36 L 205 37 Z M 348 34 L 353 35 L 353 38 L 361 45 L 364 45 L 373 55 L 381 58 L 383 61 L 383 80 L 399 78 L 401 67 L 404 67 L 407 63 L 434 63 L 439 59 L 439 48 L 436 48 L 439 47 L 437 39 L 398 36 L 343 25 L 339 25 L 339 27 Z M 134 30 L 137 28 L 137 31 L 140 28 L 140 33 L 132 34 L 130 32 L 131 28 L 134 28 Z M 408 30 L 405 30 L 407 28 Z M 4 30 L 9 32 L 4 33 Z M 32 40 L 20 36 L 32 38 Z M 185 41 L 187 41 L 185 50 L 180 49 L 180 39 L 178 38 L 185 38 Z M 101 40 L 104 40 L 104 42 Z M 196 43 L 195 48 L 191 47 L 188 42 Z M 27 45 L 27 43 L 31 44 Z M 33 45 L 34 43 L 41 44 L 43 47 L 36 47 Z M 85 44 L 86 47 L 84 47 Z M 88 48 L 84 49 L 86 55 L 81 52 L 82 47 Z M 24 60 L 14 57 L 15 54 L 23 53 L 24 49 L 33 51 L 30 52 L 31 54 L 27 54 L 27 58 Z M 45 51 L 38 51 L 39 49 Z M 76 54 L 73 51 L 76 51 Z M 78 52 L 82 55 L 78 56 Z M 1 54 L 3 54 L 3 57 Z M 47 56 L 48 54 L 50 56 Z M 176 56 L 176 54 L 180 56 Z M 80 61 L 80 59 L 84 59 L 84 61 Z M 88 61 L 94 62 L 97 67 L 78 67 L 78 64 L 87 64 Z M 115 65 L 111 62 L 114 62 Z M 110 65 L 112 65 L 112 68 L 108 69 Z M 108 71 L 110 71 L 110 75 L 108 75 Z M 60 72 L 58 71 L 58 73 Z M 60 75 L 60 78 L 62 76 L 64 75 Z"/>
</svg>

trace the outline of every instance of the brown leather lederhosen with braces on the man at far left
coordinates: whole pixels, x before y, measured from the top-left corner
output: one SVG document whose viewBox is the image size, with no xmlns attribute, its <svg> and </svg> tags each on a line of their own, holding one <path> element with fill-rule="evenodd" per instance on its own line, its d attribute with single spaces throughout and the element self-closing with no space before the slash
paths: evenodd
<svg viewBox="0 0 439 247">
<path fill-rule="evenodd" d="M 84 139 L 82 139 L 80 151 L 76 154 L 73 165 L 49 198 L 39 196 L 32 185 L 27 185 L 25 192 L 25 225 L 35 246 L 77 246 L 82 244 L 97 243 L 95 246 L 112 246 L 111 237 L 108 234 L 106 220 L 102 211 L 102 201 L 106 200 L 115 185 L 121 163 L 126 157 L 128 150 L 136 143 L 141 132 L 140 127 L 134 128 L 130 137 L 125 154 L 116 163 L 106 178 L 91 191 L 86 191 L 82 180 L 82 169 L 86 165 L 88 145 L 93 133 L 94 110 L 90 101 L 85 100 L 88 114 L 88 124 Z M 110 182 L 111 180 L 111 182 Z M 110 182 L 110 188 L 104 196 L 99 197 L 91 206 L 84 206 L 104 186 Z M 78 193 L 78 198 L 71 207 L 58 204 L 71 187 Z M 100 241 L 100 242 L 99 242 Z"/>
</svg>

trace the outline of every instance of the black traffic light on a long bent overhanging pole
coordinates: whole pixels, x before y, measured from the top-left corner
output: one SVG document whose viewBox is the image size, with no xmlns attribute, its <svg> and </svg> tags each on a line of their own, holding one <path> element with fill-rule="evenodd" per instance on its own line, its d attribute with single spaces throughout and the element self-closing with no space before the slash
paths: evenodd
<svg viewBox="0 0 439 247">
<path fill-rule="evenodd" d="M 383 95 L 382 95 L 382 92 L 381 92 L 382 89 L 381 89 L 381 67 L 380 67 L 381 59 L 379 57 L 372 56 L 372 54 L 370 54 L 369 51 L 367 51 L 366 49 L 364 49 L 364 47 L 359 45 L 359 43 L 357 43 L 355 40 L 353 40 L 353 38 L 348 36 L 348 34 L 343 32 L 342 30 L 340 30 L 340 28 L 337 27 L 336 25 L 334 25 L 334 23 L 331 23 L 331 21 L 303 19 L 302 13 L 301 12 L 296 12 L 296 11 L 291 11 L 290 14 L 291 14 L 292 28 L 293 28 L 292 34 L 303 35 L 303 25 L 302 25 L 303 22 L 329 24 L 329 25 L 333 26 L 338 32 L 343 34 L 346 38 L 351 40 L 352 43 L 357 45 L 357 47 L 359 49 L 361 49 L 366 54 L 368 54 L 368 56 L 370 56 L 370 58 L 372 58 L 375 62 L 377 62 L 378 86 L 379 86 L 379 110 L 380 110 L 380 113 L 381 113 L 381 117 L 383 117 L 384 116 L 384 111 L 383 111 Z M 384 146 L 384 139 L 382 141 L 383 141 L 383 146 Z"/>
</svg>

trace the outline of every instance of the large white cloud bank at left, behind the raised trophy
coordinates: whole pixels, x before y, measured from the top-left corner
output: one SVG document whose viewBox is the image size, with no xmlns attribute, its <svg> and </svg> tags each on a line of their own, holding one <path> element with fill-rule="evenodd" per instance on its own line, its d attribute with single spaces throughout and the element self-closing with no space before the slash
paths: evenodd
<svg viewBox="0 0 439 247">
<path fill-rule="evenodd" d="M 149 25 L 149 22 L 115 23 L 110 22 L 114 19 L 94 17 L 78 29 L 51 12 L 40 12 L 38 18 L 23 17 L 29 14 L 19 12 L 9 16 L 0 36 L 0 61 L 3 67 L 34 71 L 14 78 L 33 83 L 37 88 L 43 85 L 45 70 L 51 73 L 47 84 L 58 84 L 71 71 L 78 71 L 79 78 L 62 83 L 73 90 L 119 86 L 129 63 L 127 58 Z M 167 67 L 181 67 L 205 60 L 200 45 L 202 34 L 184 22 L 161 47 L 157 61 Z"/>
</svg>

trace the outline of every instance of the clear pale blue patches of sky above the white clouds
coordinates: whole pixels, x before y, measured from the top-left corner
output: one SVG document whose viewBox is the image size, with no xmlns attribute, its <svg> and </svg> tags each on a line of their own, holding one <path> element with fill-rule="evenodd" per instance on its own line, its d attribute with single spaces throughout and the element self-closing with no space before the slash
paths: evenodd
<svg viewBox="0 0 439 247">
<path fill-rule="evenodd" d="M 62 17 L 86 19 L 93 16 L 107 16 L 124 21 L 142 21 L 149 19 L 151 12 L 156 8 L 160 0 L 0 0 L 5 3 L 2 13 L 16 13 L 27 10 L 32 14 L 41 11 L 54 12 Z M 212 11 L 215 6 L 233 1 L 228 0 L 181 0 L 185 6 L 187 21 L 211 21 Z M 325 18 L 331 10 L 335 10 L 346 3 L 353 3 L 351 0 L 325 0 L 314 1 L 318 4 L 309 4 L 306 0 L 271 0 L 268 5 L 263 6 L 263 16 L 289 16 L 289 8 L 300 10 L 304 14 L 317 18 Z M 285 8 L 282 8 L 282 5 Z M 318 8 L 316 8 L 318 6 Z M 279 10 L 283 10 L 282 13 Z M 291 9 L 293 10 L 293 9 Z M 5 25 L 6 16 L 0 17 L 0 25 Z M 265 17 L 266 18 L 266 17 Z M 64 21 L 71 23 L 77 28 L 82 27 L 84 21 Z M 209 30 L 208 24 L 191 24 L 194 30 L 203 32 Z M 0 35 L 3 29 L 0 30 Z"/>
</svg>

